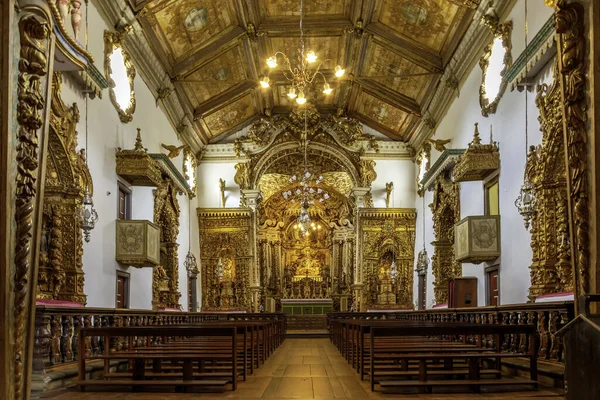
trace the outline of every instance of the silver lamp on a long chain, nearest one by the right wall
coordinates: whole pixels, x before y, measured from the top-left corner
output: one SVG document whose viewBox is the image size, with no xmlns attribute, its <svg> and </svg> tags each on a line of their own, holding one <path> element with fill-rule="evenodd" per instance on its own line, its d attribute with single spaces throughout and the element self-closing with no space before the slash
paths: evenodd
<svg viewBox="0 0 600 400">
<path fill-rule="evenodd" d="M 527 21 L 527 0 L 525 0 L 525 77 L 529 75 L 529 49 L 528 45 L 528 21 Z M 529 147 L 529 136 L 528 136 L 528 125 L 529 125 L 529 114 L 527 112 L 527 83 L 525 82 L 525 176 L 523 179 L 523 185 L 519 190 L 519 197 L 515 200 L 515 206 L 519 210 L 519 214 L 523 216 L 525 220 L 525 229 L 529 229 L 531 220 L 535 214 L 536 209 L 536 194 L 535 186 L 527 173 L 527 160 L 535 156 L 535 148 Z"/>
</svg>

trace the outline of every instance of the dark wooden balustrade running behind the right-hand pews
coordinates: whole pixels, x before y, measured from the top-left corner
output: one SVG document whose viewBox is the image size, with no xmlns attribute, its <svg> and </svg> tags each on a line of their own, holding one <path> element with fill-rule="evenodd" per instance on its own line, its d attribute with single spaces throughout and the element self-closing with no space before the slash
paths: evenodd
<svg viewBox="0 0 600 400">
<path fill-rule="evenodd" d="M 534 324 L 539 335 L 538 358 L 563 362 L 564 349 L 555 333 L 574 318 L 573 302 L 526 303 L 499 307 L 446 308 L 424 311 L 329 313 L 327 327 L 336 318 L 394 319 L 405 321 L 468 322 L 476 324 L 525 325 Z M 331 332 L 331 331 L 330 331 Z M 477 344 L 479 338 L 467 337 L 468 343 Z M 494 336 L 481 338 L 481 345 L 494 347 Z M 502 339 L 502 350 L 524 352 L 528 350 L 527 335 L 507 335 Z"/>
</svg>

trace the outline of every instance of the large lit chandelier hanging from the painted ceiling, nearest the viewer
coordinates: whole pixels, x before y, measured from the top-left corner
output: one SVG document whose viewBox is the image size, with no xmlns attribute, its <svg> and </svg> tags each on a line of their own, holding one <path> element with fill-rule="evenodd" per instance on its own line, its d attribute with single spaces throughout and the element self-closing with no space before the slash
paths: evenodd
<svg viewBox="0 0 600 400">
<path fill-rule="evenodd" d="M 329 59 L 323 60 L 318 64 L 317 62 L 318 56 L 317 54 L 309 50 L 305 52 L 304 49 L 304 30 L 302 27 L 303 22 L 303 1 L 300 0 L 300 48 L 298 49 L 298 61 L 297 63 L 292 64 L 290 58 L 285 55 L 285 53 L 281 51 L 277 51 L 275 55 L 269 57 L 267 59 L 267 66 L 269 67 L 269 73 L 266 76 L 260 78 L 260 86 L 263 89 L 268 89 L 271 87 L 271 79 L 269 78 L 272 71 L 275 69 L 279 69 L 284 78 L 291 83 L 291 87 L 287 93 L 287 96 L 290 100 L 296 100 L 296 103 L 303 105 L 306 103 L 306 92 L 307 89 L 313 84 L 317 82 L 317 78 L 321 77 L 323 79 L 323 93 L 325 95 L 330 95 L 333 92 L 333 89 L 327 82 L 325 75 L 321 72 L 321 66 L 325 61 L 330 61 Z M 283 62 L 283 63 L 281 63 Z M 309 68 L 311 65 L 315 64 L 316 67 L 314 69 Z M 341 78 L 344 76 L 346 71 L 341 66 L 335 67 L 335 76 L 336 78 Z"/>
</svg>

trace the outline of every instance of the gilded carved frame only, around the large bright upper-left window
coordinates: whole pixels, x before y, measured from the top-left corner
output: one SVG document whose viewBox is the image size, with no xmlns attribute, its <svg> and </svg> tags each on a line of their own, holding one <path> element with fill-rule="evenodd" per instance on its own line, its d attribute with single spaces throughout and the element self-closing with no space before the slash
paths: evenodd
<svg viewBox="0 0 600 400">
<path fill-rule="evenodd" d="M 129 53 L 124 47 L 125 34 L 125 31 L 104 31 L 104 73 L 106 75 L 106 80 L 108 81 L 108 93 L 110 101 L 113 103 L 113 106 L 115 106 L 115 109 L 119 113 L 119 119 L 124 124 L 133 120 L 133 113 L 135 112 L 136 105 L 134 90 L 136 70 L 133 62 L 131 61 Z M 121 52 L 123 53 L 123 61 L 125 62 L 125 69 L 127 70 L 127 78 L 129 80 L 129 91 L 131 98 L 129 100 L 129 105 L 125 110 L 123 110 L 117 102 L 117 97 L 114 90 L 116 83 L 111 77 L 112 68 L 110 66 L 110 56 L 113 54 L 115 49 L 121 49 Z"/>
</svg>

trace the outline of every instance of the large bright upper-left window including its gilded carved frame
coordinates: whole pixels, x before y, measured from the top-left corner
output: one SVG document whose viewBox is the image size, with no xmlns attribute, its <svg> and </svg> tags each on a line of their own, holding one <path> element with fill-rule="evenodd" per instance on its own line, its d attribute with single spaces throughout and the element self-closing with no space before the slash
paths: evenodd
<svg viewBox="0 0 600 400">
<path fill-rule="evenodd" d="M 123 123 L 133 120 L 135 67 L 123 48 L 125 32 L 104 32 L 104 72 L 108 80 L 110 100 Z"/>
</svg>

